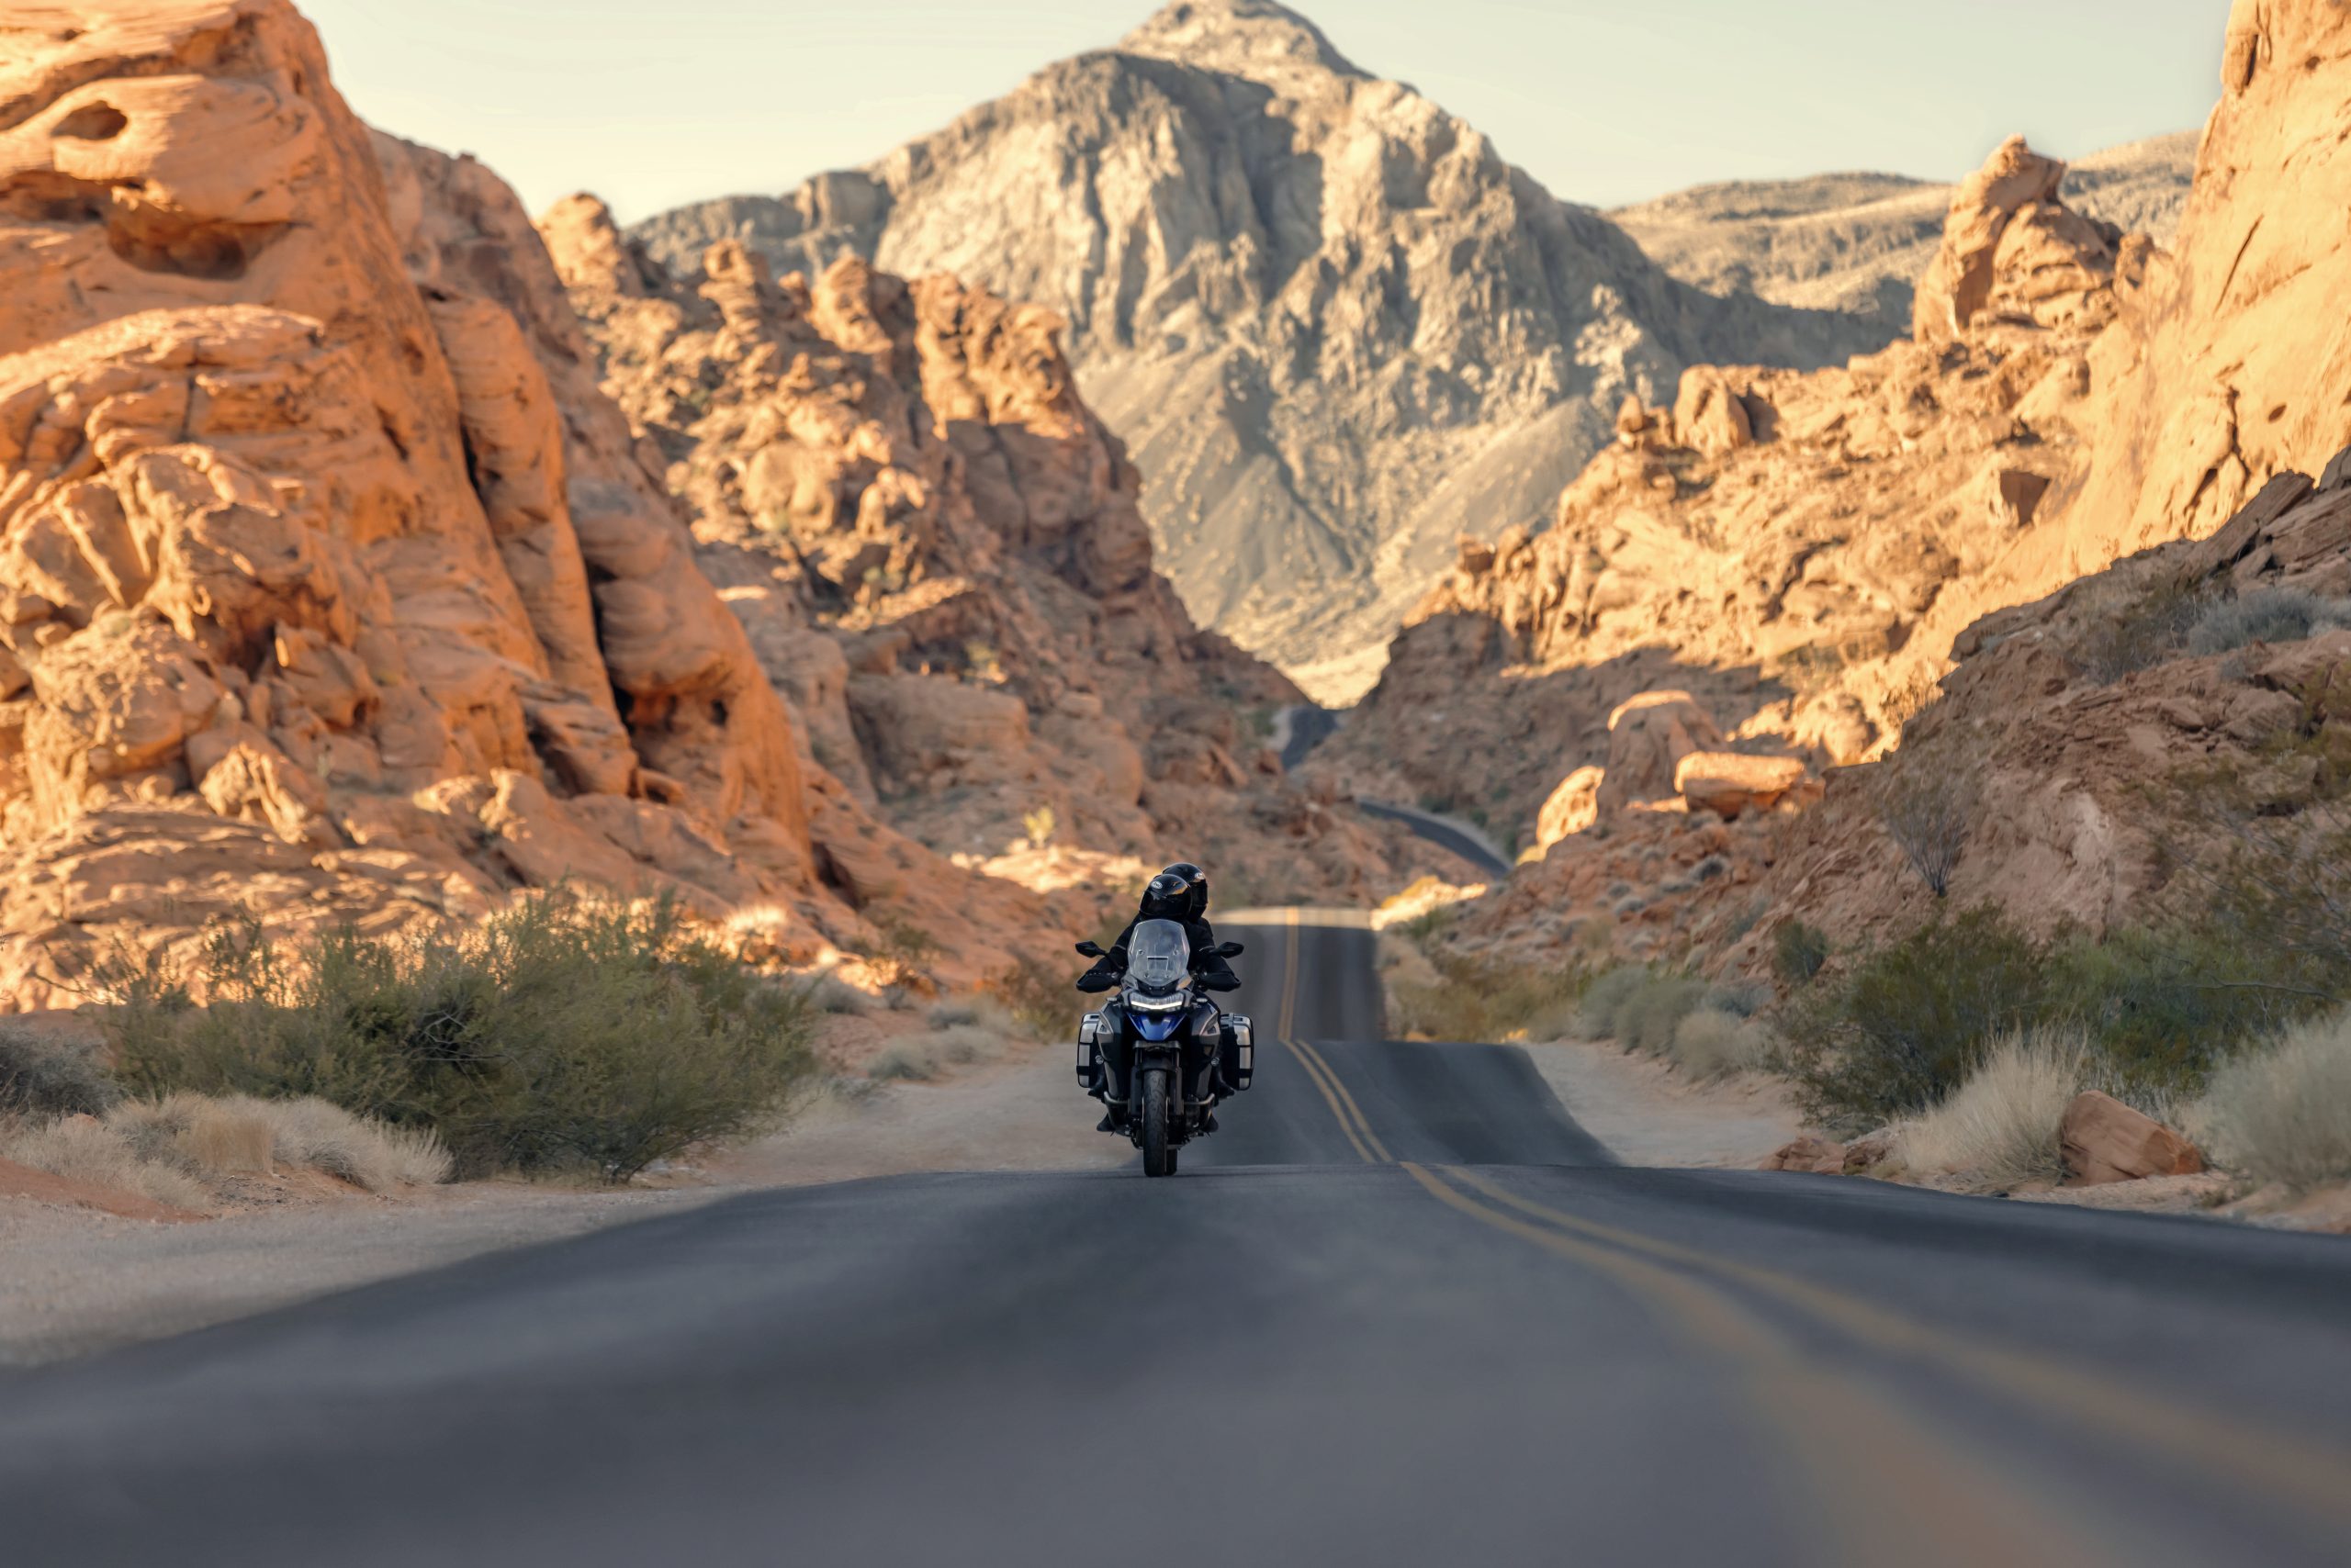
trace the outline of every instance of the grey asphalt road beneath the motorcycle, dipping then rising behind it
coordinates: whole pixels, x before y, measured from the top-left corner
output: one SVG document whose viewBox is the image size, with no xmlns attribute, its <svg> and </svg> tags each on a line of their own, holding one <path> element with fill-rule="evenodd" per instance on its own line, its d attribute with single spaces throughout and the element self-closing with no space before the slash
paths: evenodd
<svg viewBox="0 0 2351 1568">
<path fill-rule="evenodd" d="M 1270 1044 L 1183 1175 L 755 1194 L 0 1378 L 0 1563 L 2351 1561 L 2351 1244 L 1617 1168 L 1519 1051 L 1378 1044 L 1368 933 L 1225 933 Z"/>
</svg>

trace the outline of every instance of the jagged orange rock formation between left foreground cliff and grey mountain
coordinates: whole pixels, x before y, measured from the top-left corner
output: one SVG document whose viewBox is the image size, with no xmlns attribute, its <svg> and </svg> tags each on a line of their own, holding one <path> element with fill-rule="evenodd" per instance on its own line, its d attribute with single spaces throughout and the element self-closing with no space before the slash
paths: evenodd
<svg viewBox="0 0 2351 1568">
<path fill-rule="evenodd" d="M 1152 569 L 1140 480 L 1063 322 L 842 256 L 679 282 L 592 197 L 543 219 L 609 386 L 813 759 L 924 844 L 1034 886 L 1185 853 L 1220 898 L 1375 898 L 1436 858 L 1281 778 L 1270 665 Z"/>
</svg>

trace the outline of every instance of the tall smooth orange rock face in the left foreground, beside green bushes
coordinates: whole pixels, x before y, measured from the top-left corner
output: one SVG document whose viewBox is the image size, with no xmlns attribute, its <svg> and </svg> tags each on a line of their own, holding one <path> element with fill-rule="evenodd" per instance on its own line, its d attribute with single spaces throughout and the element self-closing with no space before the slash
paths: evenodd
<svg viewBox="0 0 2351 1568">
<path fill-rule="evenodd" d="M 1009 961 L 828 811 L 503 186 L 388 183 L 282 0 L 19 7 L 0 96 L 0 992 L 569 877 Z"/>
</svg>

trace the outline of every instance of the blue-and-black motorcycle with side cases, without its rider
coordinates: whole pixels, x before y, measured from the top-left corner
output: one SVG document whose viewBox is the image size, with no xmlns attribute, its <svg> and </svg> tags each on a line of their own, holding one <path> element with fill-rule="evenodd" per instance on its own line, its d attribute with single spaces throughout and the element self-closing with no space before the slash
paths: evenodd
<svg viewBox="0 0 2351 1568">
<path fill-rule="evenodd" d="M 1100 943 L 1077 950 L 1098 959 Z M 1234 959 L 1241 943 L 1218 943 Z M 1126 938 L 1119 994 L 1077 1027 L 1077 1081 L 1110 1107 L 1110 1128 L 1143 1150 L 1145 1175 L 1176 1175 L 1176 1152 L 1215 1131 L 1220 1100 L 1248 1088 L 1255 1030 L 1206 990 L 1239 980 L 1192 973 L 1192 938 L 1173 919 L 1138 922 Z"/>
</svg>

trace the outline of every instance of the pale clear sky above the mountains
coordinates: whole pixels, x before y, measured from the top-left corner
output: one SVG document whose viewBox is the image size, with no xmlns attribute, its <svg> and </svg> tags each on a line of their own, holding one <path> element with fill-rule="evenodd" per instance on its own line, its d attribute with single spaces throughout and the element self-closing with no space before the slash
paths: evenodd
<svg viewBox="0 0 2351 1568">
<path fill-rule="evenodd" d="M 538 212 L 632 221 L 879 158 L 1152 0 L 296 0 L 367 120 L 475 153 Z M 2229 0 L 1326 0 L 1293 5 L 1556 195 L 1716 179 L 1956 179 L 2193 129 Z"/>
</svg>

